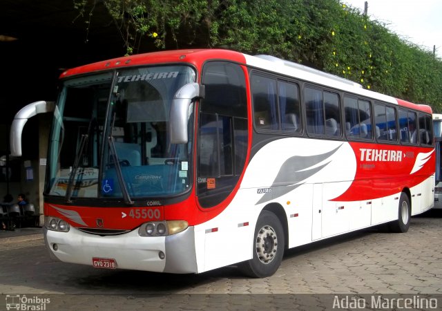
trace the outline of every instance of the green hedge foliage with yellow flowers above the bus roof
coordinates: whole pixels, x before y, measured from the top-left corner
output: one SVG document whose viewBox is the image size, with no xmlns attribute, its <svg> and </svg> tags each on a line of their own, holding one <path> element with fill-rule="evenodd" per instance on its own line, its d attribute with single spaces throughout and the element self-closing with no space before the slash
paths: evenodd
<svg viewBox="0 0 442 311">
<path fill-rule="evenodd" d="M 73 1 L 88 24 L 98 0 Z M 100 3 L 115 22 L 128 54 L 194 47 L 269 54 L 352 79 L 373 91 L 431 104 L 442 112 L 441 59 L 339 0 Z"/>
</svg>

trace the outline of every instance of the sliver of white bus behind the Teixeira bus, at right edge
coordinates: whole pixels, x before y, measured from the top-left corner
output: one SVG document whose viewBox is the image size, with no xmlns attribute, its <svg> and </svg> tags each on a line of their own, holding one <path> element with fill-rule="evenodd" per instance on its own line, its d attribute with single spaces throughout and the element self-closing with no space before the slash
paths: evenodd
<svg viewBox="0 0 442 311">
<path fill-rule="evenodd" d="M 434 150 L 436 151 L 436 173 L 434 176 L 434 208 L 442 209 L 442 114 L 433 113 Z"/>
</svg>

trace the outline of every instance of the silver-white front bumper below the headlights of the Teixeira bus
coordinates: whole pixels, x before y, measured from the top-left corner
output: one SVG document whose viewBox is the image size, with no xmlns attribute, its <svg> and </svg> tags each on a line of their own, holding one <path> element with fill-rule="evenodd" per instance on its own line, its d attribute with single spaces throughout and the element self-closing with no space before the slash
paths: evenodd
<svg viewBox="0 0 442 311">
<path fill-rule="evenodd" d="M 69 232 L 44 228 L 44 239 L 50 256 L 66 263 L 93 265 L 93 257 L 113 258 L 119 269 L 198 273 L 193 227 L 171 236 L 139 236 L 138 229 L 99 236 L 75 227 L 70 227 Z M 164 259 L 160 252 L 165 254 Z"/>
</svg>

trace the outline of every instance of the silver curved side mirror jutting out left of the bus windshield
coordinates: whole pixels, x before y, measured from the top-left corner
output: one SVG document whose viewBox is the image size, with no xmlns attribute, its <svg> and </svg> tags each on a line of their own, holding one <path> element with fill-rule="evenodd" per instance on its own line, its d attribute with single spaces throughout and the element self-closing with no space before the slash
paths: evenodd
<svg viewBox="0 0 442 311">
<path fill-rule="evenodd" d="M 21 133 L 23 133 L 23 127 L 30 117 L 39 113 L 47 113 L 54 111 L 54 102 L 33 102 L 24 106 L 18 113 L 15 114 L 14 120 L 10 129 L 10 149 L 11 156 L 21 156 Z"/>
</svg>

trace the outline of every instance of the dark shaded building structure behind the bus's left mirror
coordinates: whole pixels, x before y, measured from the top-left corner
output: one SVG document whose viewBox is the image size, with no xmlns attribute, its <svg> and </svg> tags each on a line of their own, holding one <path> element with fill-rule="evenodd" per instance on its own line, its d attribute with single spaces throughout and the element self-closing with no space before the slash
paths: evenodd
<svg viewBox="0 0 442 311">
<path fill-rule="evenodd" d="M 0 10 L 0 200 L 26 194 L 43 213 L 47 140 L 52 115 L 23 129 L 23 156 L 9 155 L 15 113 L 38 100 L 55 101 L 65 68 L 124 55 L 124 42 L 101 1 L 87 30 L 73 1 L 3 0 Z"/>
</svg>

